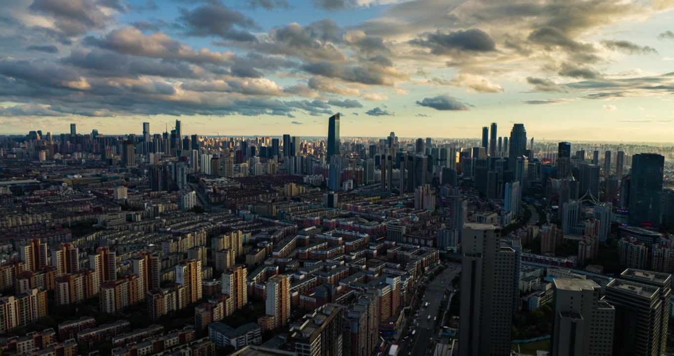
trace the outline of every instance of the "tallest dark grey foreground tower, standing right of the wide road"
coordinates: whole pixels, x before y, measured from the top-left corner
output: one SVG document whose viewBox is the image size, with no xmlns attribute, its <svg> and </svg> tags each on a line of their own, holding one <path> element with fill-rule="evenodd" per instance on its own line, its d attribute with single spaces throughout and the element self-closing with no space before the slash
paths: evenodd
<svg viewBox="0 0 674 356">
<path fill-rule="evenodd" d="M 510 355 L 516 252 L 496 225 L 466 224 L 461 239 L 459 355 Z"/>
</svg>

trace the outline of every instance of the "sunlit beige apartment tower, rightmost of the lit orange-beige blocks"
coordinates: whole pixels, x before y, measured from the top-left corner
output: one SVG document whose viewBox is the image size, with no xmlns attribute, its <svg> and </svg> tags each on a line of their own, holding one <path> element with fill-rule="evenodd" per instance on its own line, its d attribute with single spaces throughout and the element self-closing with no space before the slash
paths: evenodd
<svg viewBox="0 0 674 356">
<path fill-rule="evenodd" d="M 269 321 L 263 324 L 280 329 L 290 321 L 290 276 L 277 274 L 269 278 L 265 293 L 265 314 Z"/>
</svg>

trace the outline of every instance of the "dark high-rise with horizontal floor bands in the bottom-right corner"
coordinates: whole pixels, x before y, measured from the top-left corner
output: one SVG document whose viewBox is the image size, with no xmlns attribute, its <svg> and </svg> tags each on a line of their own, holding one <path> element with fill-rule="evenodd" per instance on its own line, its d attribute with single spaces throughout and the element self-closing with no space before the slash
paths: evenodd
<svg viewBox="0 0 674 356">
<path fill-rule="evenodd" d="M 615 306 L 613 355 L 665 355 L 671 274 L 628 268 L 606 286 Z"/>
</svg>

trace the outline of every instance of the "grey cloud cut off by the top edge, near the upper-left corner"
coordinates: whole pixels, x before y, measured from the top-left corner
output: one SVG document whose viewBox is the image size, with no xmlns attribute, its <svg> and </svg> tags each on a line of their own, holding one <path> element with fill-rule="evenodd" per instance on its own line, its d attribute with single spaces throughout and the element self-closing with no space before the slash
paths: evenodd
<svg viewBox="0 0 674 356">
<path fill-rule="evenodd" d="M 78 36 L 112 21 L 100 7 L 113 6 L 117 1 L 105 2 L 109 4 L 91 0 L 34 0 L 29 9 L 53 18 L 55 26 L 66 36 Z"/>
</svg>

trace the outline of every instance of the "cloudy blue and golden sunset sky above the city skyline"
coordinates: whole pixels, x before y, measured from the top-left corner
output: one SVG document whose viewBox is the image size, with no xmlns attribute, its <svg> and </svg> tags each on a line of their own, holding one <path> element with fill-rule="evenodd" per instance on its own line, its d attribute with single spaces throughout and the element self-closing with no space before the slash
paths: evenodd
<svg viewBox="0 0 674 356">
<path fill-rule="evenodd" d="M 671 142 L 674 0 L 0 1 L 0 133 Z"/>
</svg>

